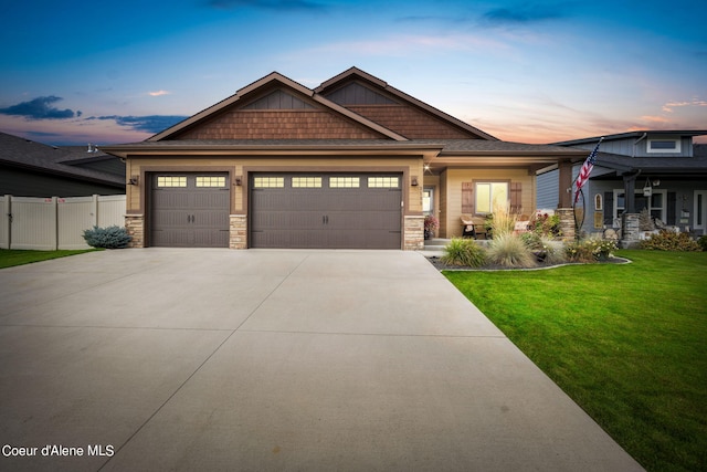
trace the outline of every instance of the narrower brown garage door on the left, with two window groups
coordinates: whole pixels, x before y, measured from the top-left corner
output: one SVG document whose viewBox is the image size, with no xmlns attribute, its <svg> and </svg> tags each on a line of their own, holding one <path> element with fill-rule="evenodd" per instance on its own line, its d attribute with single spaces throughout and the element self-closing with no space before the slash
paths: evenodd
<svg viewBox="0 0 707 472">
<path fill-rule="evenodd" d="M 151 185 L 150 245 L 229 247 L 228 174 L 156 174 Z"/>
</svg>

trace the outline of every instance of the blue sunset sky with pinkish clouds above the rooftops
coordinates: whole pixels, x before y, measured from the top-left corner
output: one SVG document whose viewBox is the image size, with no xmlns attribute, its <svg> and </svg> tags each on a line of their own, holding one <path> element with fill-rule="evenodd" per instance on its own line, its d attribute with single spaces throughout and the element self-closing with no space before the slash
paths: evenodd
<svg viewBox="0 0 707 472">
<path fill-rule="evenodd" d="M 273 71 L 312 88 L 354 65 L 504 140 L 706 129 L 705 19 L 704 0 L 11 1 L 0 132 L 135 143 Z"/>
</svg>

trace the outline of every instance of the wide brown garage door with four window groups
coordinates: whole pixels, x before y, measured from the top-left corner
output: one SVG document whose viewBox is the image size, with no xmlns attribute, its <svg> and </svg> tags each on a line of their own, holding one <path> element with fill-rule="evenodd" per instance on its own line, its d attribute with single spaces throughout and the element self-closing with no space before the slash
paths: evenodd
<svg viewBox="0 0 707 472">
<path fill-rule="evenodd" d="M 401 182 L 401 175 L 252 175 L 250 245 L 400 249 Z"/>
</svg>

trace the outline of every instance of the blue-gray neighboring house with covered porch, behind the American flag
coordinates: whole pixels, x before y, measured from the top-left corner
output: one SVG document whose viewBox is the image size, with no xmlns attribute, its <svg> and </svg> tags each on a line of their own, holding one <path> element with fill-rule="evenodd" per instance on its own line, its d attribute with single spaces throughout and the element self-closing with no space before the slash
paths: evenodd
<svg viewBox="0 0 707 472">
<path fill-rule="evenodd" d="M 707 234 L 707 145 L 693 137 L 707 130 L 641 130 L 605 136 L 583 188 L 584 234 L 622 228 L 622 213 L 647 208 L 666 225 Z M 556 143 L 585 149 L 599 137 Z M 582 161 L 572 166 L 572 181 Z M 538 174 L 538 208 L 557 208 L 558 169 Z M 573 192 L 573 189 L 571 190 Z M 626 198 L 627 197 L 627 198 Z M 581 200 L 580 203 L 581 204 Z"/>
</svg>

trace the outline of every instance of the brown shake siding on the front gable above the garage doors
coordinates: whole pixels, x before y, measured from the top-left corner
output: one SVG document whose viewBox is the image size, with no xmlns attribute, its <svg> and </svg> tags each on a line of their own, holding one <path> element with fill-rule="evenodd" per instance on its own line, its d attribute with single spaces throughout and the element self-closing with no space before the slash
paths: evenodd
<svg viewBox="0 0 707 472">
<path fill-rule="evenodd" d="M 230 111 L 176 139 L 380 139 L 324 109 Z"/>
</svg>

